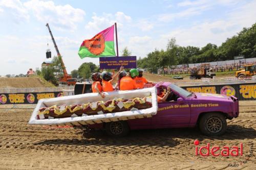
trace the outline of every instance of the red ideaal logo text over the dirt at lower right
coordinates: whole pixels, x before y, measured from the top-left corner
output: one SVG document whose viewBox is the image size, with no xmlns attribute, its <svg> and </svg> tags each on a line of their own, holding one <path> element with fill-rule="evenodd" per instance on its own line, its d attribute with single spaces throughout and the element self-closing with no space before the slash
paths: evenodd
<svg viewBox="0 0 256 170">
<path fill-rule="evenodd" d="M 243 156 L 243 143 L 240 143 L 240 146 L 232 146 L 232 147 L 210 147 L 210 143 L 207 143 L 206 146 L 198 147 L 200 144 L 199 140 L 195 140 L 194 144 L 196 146 L 196 156 Z"/>
</svg>

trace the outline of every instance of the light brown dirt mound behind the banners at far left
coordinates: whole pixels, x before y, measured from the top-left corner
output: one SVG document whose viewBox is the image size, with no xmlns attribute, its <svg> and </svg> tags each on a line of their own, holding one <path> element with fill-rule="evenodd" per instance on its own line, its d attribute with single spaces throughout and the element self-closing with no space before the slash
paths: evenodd
<svg viewBox="0 0 256 170">
<path fill-rule="evenodd" d="M 0 88 L 55 87 L 39 77 L 0 78 Z"/>
</svg>

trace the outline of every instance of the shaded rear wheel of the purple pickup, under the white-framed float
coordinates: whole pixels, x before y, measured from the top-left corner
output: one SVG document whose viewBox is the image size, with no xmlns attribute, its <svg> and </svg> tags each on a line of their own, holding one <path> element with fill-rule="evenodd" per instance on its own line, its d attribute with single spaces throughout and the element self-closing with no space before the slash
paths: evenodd
<svg viewBox="0 0 256 170">
<path fill-rule="evenodd" d="M 122 137 L 130 132 L 130 128 L 125 121 L 109 122 L 105 124 L 105 131 L 110 136 Z"/>
</svg>

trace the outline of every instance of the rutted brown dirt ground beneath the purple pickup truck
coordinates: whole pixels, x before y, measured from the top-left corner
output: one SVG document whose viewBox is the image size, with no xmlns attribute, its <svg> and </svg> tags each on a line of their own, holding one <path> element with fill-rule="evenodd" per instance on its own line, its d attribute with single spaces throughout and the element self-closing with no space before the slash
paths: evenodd
<svg viewBox="0 0 256 170">
<path fill-rule="evenodd" d="M 0 169 L 255 169 L 253 101 L 240 102 L 240 116 L 228 120 L 220 137 L 185 128 L 138 130 L 111 138 L 102 131 L 29 126 L 32 111 L 0 109 Z M 242 142 L 243 156 L 195 156 L 195 139 L 200 146 Z"/>
</svg>

